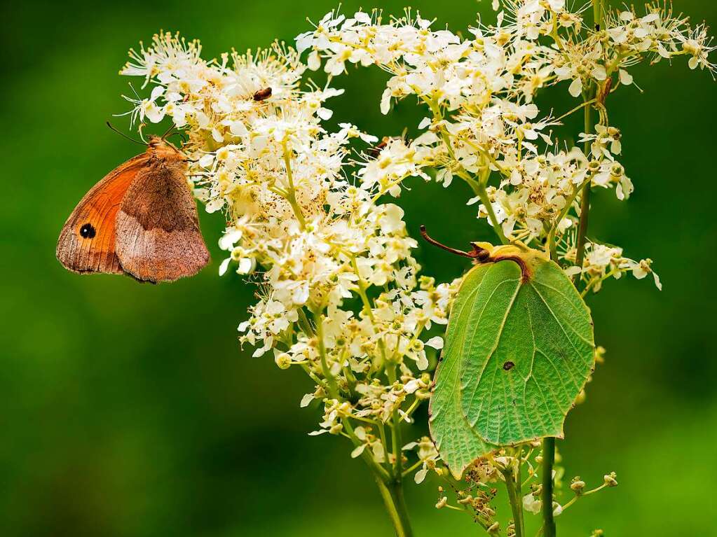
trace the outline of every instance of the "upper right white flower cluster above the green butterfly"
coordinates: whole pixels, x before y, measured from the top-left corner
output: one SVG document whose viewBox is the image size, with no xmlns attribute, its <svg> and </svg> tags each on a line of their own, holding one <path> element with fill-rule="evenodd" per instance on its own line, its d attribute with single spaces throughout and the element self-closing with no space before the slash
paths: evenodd
<svg viewBox="0 0 717 537">
<path fill-rule="evenodd" d="M 687 55 L 691 68 L 714 72 L 708 61 L 714 47 L 705 26 L 693 28 L 661 4 L 648 4 L 644 16 L 611 12 L 595 29 L 564 0 L 505 0 L 494 7 L 498 25 L 478 21 L 467 39 L 433 30 L 432 21 L 410 11 L 387 21 L 381 11 L 348 18 L 331 11 L 297 37 L 298 50 L 308 51 L 310 69 L 323 64 L 331 76 L 351 64 L 384 69 L 391 75 L 381 96 L 384 114 L 409 95 L 429 110 L 415 140 L 392 140 L 366 163 L 359 172 L 365 183 L 399 195 L 404 178 L 429 179 L 425 170 L 435 169 L 445 186 L 460 178 L 473 188 L 468 203 L 478 204 L 479 218 L 487 218 L 499 238 L 535 246 L 567 240 L 585 185 L 614 188 L 620 200 L 632 193 L 617 161 L 620 132 L 609 125 L 604 106 L 619 85 L 633 83 L 627 69 L 645 58 L 655 63 Z M 563 81 L 583 104 L 557 119 L 538 119 L 533 96 Z M 551 127 L 592 107 L 599 122 L 581 136 L 586 150 L 554 149 Z M 494 173 L 497 185 L 490 183 Z"/>
</svg>

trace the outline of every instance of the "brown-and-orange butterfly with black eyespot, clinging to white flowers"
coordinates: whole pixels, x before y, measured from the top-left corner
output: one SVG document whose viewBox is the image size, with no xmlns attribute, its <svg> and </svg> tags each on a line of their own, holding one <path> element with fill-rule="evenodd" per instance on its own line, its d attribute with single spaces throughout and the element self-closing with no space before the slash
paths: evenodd
<svg viewBox="0 0 717 537">
<path fill-rule="evenodd" d="M 140 281 L 194 276 L 209 262 L 186 157 L 159 137 L 93 186 L 67 218 L 57 259 L 81 274 L 128 274 Z"/>
</svg>

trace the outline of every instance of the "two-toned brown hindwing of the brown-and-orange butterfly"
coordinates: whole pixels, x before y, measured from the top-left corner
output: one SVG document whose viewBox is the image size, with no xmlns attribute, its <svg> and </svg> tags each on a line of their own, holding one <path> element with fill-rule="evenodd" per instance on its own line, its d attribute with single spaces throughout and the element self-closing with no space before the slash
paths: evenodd
<svg viewBox="0 0 717 537">
<path fill-rule="evenodd" d="M 209 262 L 178 153 L 157 150 L 130 185 L 117 213 L 122 269 L 142 281 L 194 276 Z"/>
</svg>

